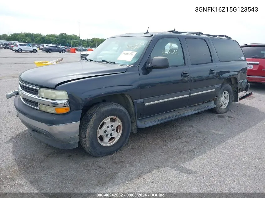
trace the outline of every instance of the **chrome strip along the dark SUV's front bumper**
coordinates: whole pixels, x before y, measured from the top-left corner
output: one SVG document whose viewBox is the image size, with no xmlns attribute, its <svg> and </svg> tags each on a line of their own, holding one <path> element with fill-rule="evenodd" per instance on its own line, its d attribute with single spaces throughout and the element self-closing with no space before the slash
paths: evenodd
<svg viewBox="0 0 265 198">
<path fill-rule="evenodd" d="M 78 122 L 71 122 L 66 124 L 45 124 L 42 122 L 38 122 L 36 120 L 30 119 L 23 114 L 17 111 L 18 117 L 21 121 L 33 126 L 38 129 L 42 129 L 44 131 L 49 132 L 53 137 L 58 139 L 70 138 L 75 137 L 79 134 L 79 121 Z"/>
</svg>

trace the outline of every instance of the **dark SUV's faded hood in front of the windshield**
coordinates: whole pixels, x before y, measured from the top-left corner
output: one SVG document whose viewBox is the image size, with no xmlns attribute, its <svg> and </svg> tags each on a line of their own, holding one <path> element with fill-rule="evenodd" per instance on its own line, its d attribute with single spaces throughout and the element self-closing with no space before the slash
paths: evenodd
<svg viewBox="0 0 265 198">
<path fill-rule="evenodd" d="M 123 73 L 126 70 L 127 66 L 78 61 L 29 69 L 19 75 L 19 80 L 29 84 L 55 88 L 57 84 L 65 81 Z"/>
</svg>

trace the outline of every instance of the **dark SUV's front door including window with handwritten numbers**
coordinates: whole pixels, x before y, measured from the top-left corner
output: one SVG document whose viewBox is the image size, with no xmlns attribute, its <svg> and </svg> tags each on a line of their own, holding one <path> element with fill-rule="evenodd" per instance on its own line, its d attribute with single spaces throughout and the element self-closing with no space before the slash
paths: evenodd
<svg viewBox="0 0 265 198">
<path fill-rule="evenodd" d="M 189 99 L 189 67 L 179 38 L 160 38 L 151 48 L 151 55 L 143 59 L 146 64 L 139 71 L 140 97 L 143 101 L 141 118 L 183 108 Z M 146 65 L 156 56 L 167 57 L 169 67 L 146 69 Z"/>
</svg>

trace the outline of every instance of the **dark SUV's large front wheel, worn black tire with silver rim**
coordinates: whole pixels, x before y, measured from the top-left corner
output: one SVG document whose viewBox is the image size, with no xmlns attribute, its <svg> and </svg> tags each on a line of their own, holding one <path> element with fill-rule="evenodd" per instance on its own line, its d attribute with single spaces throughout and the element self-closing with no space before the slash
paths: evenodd
<svg viewBox="0 0 265 198">
<path fill-rule="evenodd" d="M 109 122 L 102 126 L 106 119 Z M 119 123 L 120 124 L 117 124 Z M 102 127 L 102 128 L 101 128 Z M 101 128 L 103 135 L 98 135 L 98 129 Z M 114 131 L 112 134 L 112 131 Z M 117 133 L 117 131 L 119 131 Z M 89 109 L 80 122 L 79 142 L 83 149 L 94 157 L 102 157 L 110 155 L 120 150 L 128 141 L 131 131 L 131 120 L 127 110 L 120 104 L 113 102 L 103 102 L 94 105 Z M 106 137 L 110 137 L 109 141 L 103 142 Z M 115 140 L 114 136 L 117 137 Z M 103 139 L 104 138 L 104 139 Z M 101 143 L 100 143 L 101 142 Z"/>
</svg>

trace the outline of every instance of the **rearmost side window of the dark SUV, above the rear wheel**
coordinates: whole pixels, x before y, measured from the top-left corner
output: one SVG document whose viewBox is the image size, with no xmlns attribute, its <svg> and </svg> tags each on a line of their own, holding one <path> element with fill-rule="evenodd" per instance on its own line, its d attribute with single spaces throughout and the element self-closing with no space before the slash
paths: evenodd
<svg viewBox="0 0 265 198">
<path fill-rule="evenodd" d="M 240 45 L 234 40 L 211 38 L 221 62 L 245 60 Z"/>
</svg>

